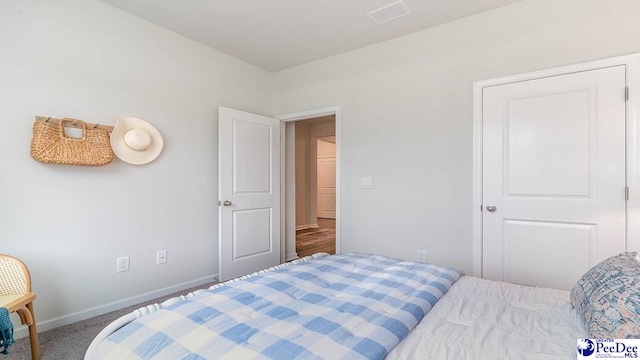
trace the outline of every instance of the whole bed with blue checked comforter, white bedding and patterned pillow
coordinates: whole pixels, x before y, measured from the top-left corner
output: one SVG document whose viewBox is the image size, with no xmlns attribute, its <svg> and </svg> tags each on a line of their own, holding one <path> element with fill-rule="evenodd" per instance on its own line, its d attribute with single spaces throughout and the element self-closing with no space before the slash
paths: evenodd
<svg viewBox="0 0 640 360">
<path fill-rule="evenodd" d="M 138 309 L 85 359 L 575 358 L 578 339 L 640 336 L 638 264 L 635 253 L 612 257 L 569 293 L 315 254 Z"/>
</svg>

